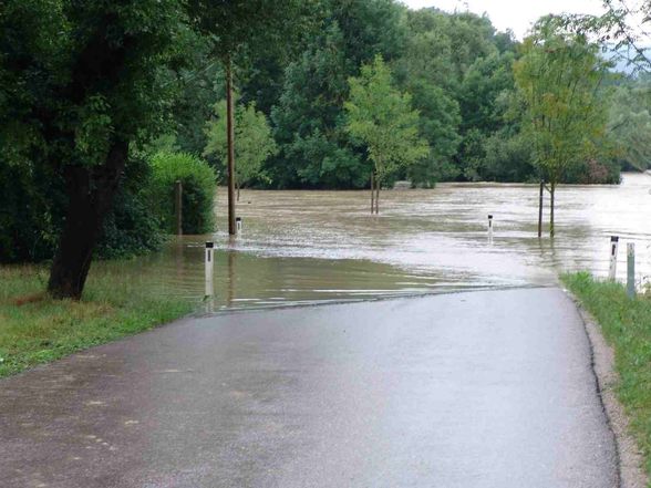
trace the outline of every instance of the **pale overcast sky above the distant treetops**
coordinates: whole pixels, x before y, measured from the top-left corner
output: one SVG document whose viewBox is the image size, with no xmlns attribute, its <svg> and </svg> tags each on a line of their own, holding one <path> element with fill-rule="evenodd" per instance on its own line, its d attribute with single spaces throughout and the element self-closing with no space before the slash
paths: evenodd
<svg viewBox="0 0 651 488">
<path fill-rule="evenodd" d="M 533 22 L 548 13 L 601 13 L 601 0 L 402 0 L 412 9 L 436 7 L 442 10 L 486 12 L 500 31 L 510 29 L 523 39 Z"/>
</svg>

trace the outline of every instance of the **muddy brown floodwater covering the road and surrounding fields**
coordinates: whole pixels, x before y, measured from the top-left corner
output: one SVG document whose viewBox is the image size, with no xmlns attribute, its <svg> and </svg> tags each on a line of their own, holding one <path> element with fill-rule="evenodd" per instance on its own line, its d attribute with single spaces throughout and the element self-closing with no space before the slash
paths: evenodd
<svg viewBox="0 0 651 488">
<path fill-rule="evenodd" d="M 535 185 L 441 184 L 386 190 L 380 216 L 368 191 L 242 191 L 244 231 L 229 238 L 219 189 L 217 227 L 162 252 L 99 263 L 125 279 L 148 277 L 162 293 L 204 298 L 204 242 L 216 247 L 214 309 L 347 301 L 437 291 L 554 284 L 558 272 L 608 272 L 611 235 L 636 242 L 641 283 L 651 276 L 651 177 L 624 174 L 619 186 L 562 186 L 557 237 L 537 237 Z M 548 214 L 545 212 L 546 220 Z M 487 215 L 493 214 L 493 239 Z"/>
</svg>

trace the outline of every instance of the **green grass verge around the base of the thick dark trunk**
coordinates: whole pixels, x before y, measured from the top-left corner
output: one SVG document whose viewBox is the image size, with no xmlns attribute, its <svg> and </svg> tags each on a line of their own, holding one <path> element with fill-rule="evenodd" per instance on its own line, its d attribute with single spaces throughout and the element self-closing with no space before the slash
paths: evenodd
<svg viewBox="0 0 651 488">
<path fill-rule="evenodd" d="M 42 267 L 0 267 L 0 377 L 152 329 L 193 304 L 115 267 L 94 267 L 81 301 L 50 299 Z M 113 269 L 113 271 L 111 271 Z M 117 270 L 120 267 L 117 267 Z"/>
</svg>

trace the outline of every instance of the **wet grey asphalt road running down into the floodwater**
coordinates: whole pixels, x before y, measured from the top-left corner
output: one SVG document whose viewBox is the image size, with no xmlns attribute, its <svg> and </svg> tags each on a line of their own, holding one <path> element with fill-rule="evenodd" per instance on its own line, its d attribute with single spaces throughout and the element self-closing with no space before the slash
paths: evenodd
<svg viewBox="0 0 651 488">
<path fill-rule="evenodd" d="M 176 322 L 0 381 L 1 487 L 617 486 L 557 289 Z"/>
</svg>

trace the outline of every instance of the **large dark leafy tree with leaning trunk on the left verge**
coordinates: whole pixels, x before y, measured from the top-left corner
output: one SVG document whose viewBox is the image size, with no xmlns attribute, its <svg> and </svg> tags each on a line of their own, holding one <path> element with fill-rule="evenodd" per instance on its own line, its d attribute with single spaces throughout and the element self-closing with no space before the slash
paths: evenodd
<svg viewBox="0 0 651 488">
<path fill-rule="evenodd" d="M 176 124 L 183 76 L 203 61 L 194 53 L 228 68 L 235 55 L 282 46 L 313 8 L 304 0 L 2 2 L 0 167 L 16 168 L 8 173 L 28 189 L 33 175 L 53 188 L 63 183 L 62 196 L 42 197 L 43 218 L 55 197 L 65 208 L 52 295 L 81 295 L 127 163 Z"/>
</svg>

